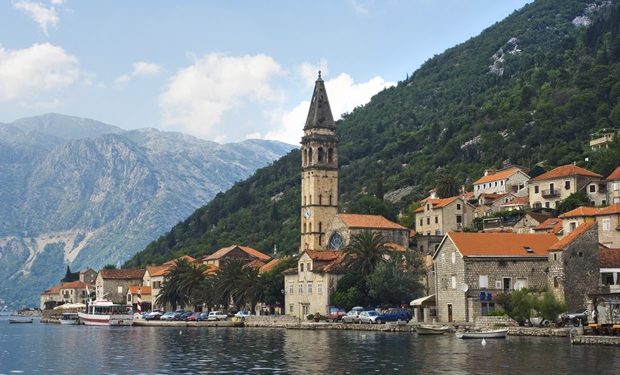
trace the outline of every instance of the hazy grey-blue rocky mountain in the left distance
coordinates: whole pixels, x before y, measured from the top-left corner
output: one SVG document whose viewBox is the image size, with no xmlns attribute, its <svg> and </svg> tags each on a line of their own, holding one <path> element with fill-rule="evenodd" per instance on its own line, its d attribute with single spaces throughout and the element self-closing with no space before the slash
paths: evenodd
<svg viewBox="0 0 620 375">
<path fill-rule="evenodd" d="M 37 304 L 73 270 L 120 264 L 293 146 L 218 144 L 48 114 L 0 124 L 0 299 Z"/>
</svg>

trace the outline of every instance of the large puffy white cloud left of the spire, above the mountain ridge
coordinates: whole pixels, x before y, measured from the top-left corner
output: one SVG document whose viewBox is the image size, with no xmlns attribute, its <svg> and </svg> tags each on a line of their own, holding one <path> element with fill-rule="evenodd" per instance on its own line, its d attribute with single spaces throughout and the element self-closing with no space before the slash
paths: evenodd
<svg viewBox="0 0 620 375">
<path fill-rule="evenodd" d="M 222 116 L 245 102 L 280 99 L 272 79 L 284 70 L 270 56 L 212 53 L 179 70 L 159 96 L 163 126 L 207 139 L 227 140 Z M 219 128 L 218 128 L 219 127 Z"/>
</svg>

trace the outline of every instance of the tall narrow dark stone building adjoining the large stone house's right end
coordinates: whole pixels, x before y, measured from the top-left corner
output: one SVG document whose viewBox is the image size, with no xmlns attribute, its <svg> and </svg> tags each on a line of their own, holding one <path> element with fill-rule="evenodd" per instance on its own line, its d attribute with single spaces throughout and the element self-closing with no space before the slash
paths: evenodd
<svg viewBox="0 0 620 375">
<path fill-rule="evenodd" d="M 583 223 L 549 247 L 548 285 L 569 311 L 585 308 L 588 293 L 598 290 L 598 227 Z"/>
</svg>

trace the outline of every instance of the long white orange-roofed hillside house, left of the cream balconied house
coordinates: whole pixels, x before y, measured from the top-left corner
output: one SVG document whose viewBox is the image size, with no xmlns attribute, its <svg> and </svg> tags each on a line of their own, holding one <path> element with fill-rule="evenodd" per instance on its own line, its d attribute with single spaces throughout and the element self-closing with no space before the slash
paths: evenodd
<svg viewBox="0 0 620 375">
<path fill-rule="evenodd" d="M 521 168 L 509 167 L 499 171 L 485 170 L 484 176 L 474 182 L 474 195 L 517 193 L 530 179 Z"/>
</svg>

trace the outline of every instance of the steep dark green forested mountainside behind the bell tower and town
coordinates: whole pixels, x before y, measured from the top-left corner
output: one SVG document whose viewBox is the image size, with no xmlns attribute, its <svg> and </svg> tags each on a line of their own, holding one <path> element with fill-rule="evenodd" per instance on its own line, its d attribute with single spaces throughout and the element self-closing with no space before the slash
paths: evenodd
<svg viewBox="0 0 620 375">
<path fill-rule="evenodd" d="M 593 154 L 588 141 L 620 128 L 619 25 L 618 1 L 538 0 L 344 115 L 336 125 L 340 209 L 400 211 L 411 225 L 410 203 L 442 177 L 471 187 L 485 168 L 574 161 L 609 173 L 620 165 L 620 142 Z M 294 150 L 258 170 L 126 265 L 231 243 L 296 252 L 300 164 Z"/>
</svg>

